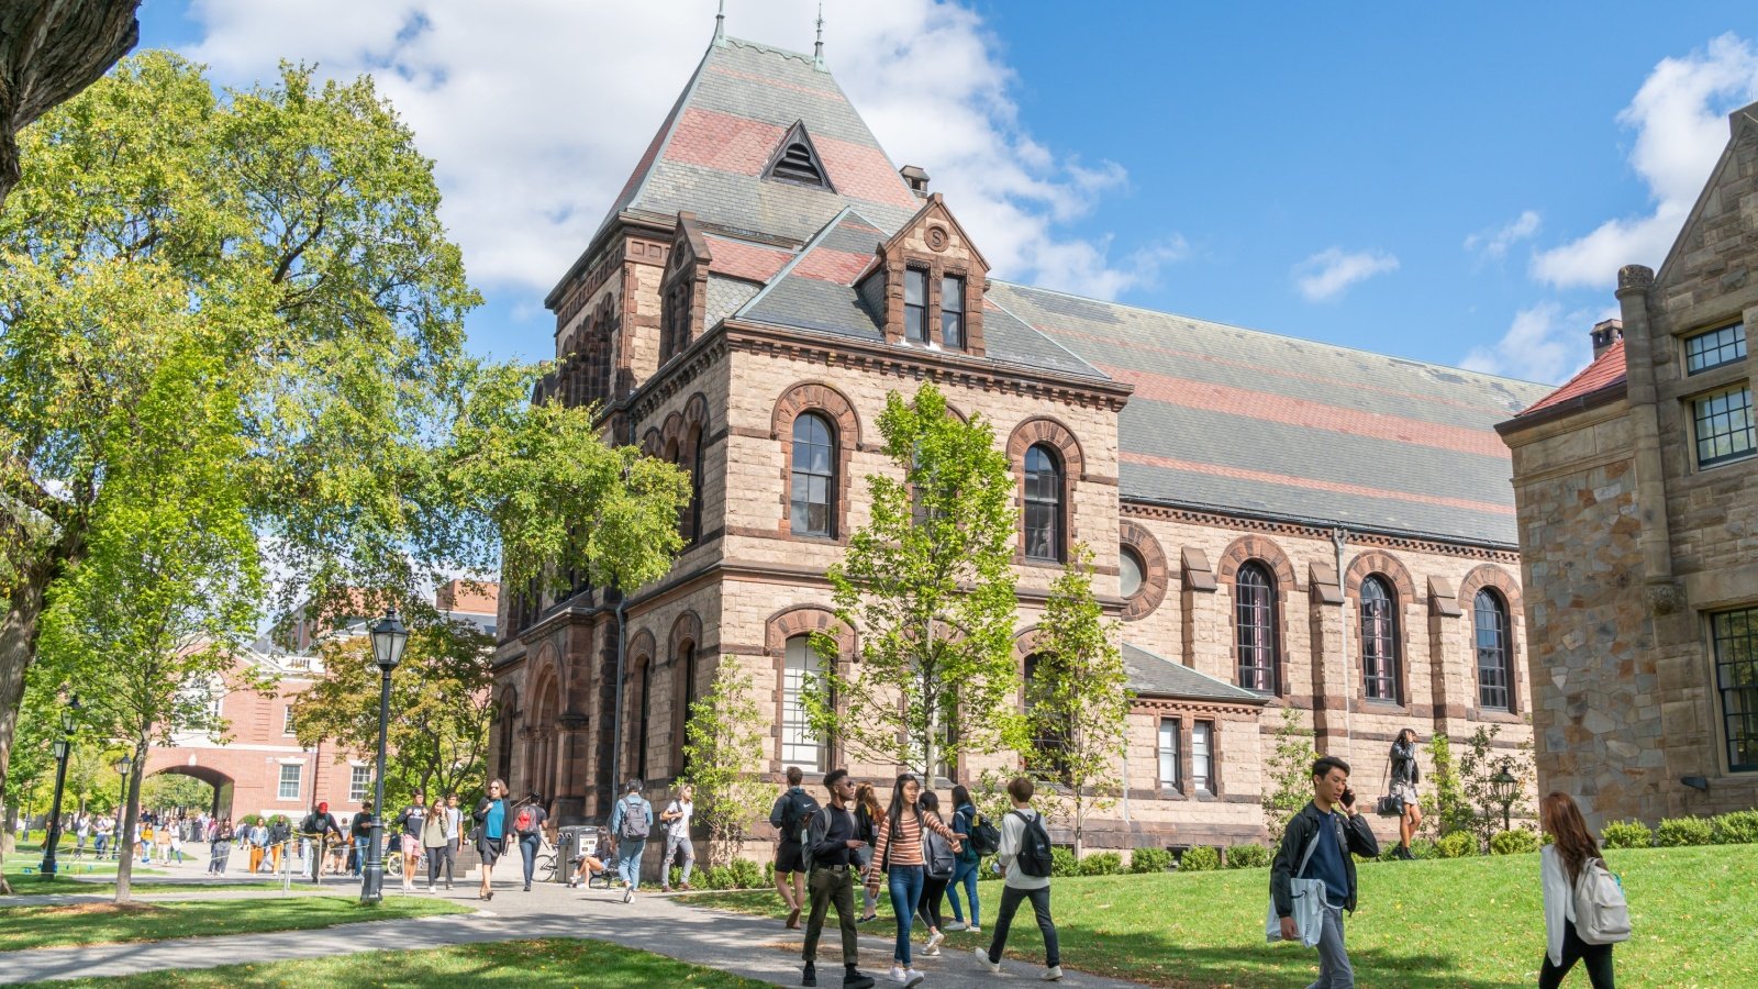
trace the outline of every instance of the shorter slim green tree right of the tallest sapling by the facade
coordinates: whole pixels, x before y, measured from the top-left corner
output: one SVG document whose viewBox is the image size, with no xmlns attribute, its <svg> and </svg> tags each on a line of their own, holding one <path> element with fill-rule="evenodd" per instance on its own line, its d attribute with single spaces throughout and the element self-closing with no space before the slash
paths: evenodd
<svg viewBox="0 0 1758 989">
<path fill-rule="evenodd" d="M 1102 619 L 1092 577 L 1092 551 L 1078 544 L 1050 586 L 1025 711 L 1009 732 L 1027 771 L 1055 783 L 1050 792 L 1071 822 L 1076 855 L 1085 846 L 1088 815 L 1116 802 L 1136 697 L 1118 648 L 1118 623 Z"/>
</svg>

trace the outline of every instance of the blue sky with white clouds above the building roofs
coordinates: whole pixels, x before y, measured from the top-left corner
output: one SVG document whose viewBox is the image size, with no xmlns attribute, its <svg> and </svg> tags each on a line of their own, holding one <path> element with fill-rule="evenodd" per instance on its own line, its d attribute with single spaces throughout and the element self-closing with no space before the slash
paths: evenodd
<svg viewBox="0 0 1758 989">
<path fill-rule="evenodd" d="M 489 304 L 541 297 L 708 40 L 714 0 L 146 0 L 216 81 L 373 70 L 436 160 Z M 810 0 L 728 32 L 810 49 Z M 826 4 L 826 58 L 997 276 L 1531 380 L 1587 357 L 1616 267 L 1658 266 L 1758 100 L 1749 4 Z"/>
</svg>

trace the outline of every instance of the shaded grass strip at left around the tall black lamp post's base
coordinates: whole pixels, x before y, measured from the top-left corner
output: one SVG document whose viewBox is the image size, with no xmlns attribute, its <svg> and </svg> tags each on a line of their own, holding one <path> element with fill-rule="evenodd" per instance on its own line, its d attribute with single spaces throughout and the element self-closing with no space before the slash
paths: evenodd
<svg viewBox="0 0 1758 989">
<path fill-rule="evenodd" d="M 181 899 L 116 906 L 0 908 L 0 952 L 116 941 L 158 941 L 197 934 L 304 931 L 359 920 L 399 920 L 427 913 L 469 913 L 443 899 L 392 897 L 360 906 L 353 897 L 294 896 L 287 899 Z"/>
</svg>

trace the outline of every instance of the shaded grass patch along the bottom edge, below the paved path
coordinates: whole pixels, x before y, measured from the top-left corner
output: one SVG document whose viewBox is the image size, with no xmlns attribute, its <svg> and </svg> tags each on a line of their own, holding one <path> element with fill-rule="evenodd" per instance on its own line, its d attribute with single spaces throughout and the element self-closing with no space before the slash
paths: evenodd
<svg viewBox="0 0 1758 989">
<path fill-rule="evenodd" d="M 832 980 L 832 984 L 837 980 Z M 499 945 L 459 945 L 420 952 L 366 952 L 272 964 L 229 964 L 195 971 L 146 971 L 121 978 L 72 978 L 33 985 L 77 989 L 352 989 L 380 985 L 510 985 L 515 989 L 624 989 L 628 985 L 696 985 L 759 989 L 752 982 L 696 968 L 656 954 L 603 941 L 543 940 Z"/>
</svg>

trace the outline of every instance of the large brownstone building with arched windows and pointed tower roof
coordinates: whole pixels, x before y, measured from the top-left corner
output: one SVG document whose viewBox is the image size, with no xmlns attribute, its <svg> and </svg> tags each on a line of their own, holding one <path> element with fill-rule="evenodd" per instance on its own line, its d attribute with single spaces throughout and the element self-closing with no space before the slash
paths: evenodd
<svg viewBox="0 0 1758 989">
<path fill-rule="evenodd" d="M 605 815 L 615 780 L 670 783 L 719 662 L 763 685 L 752 771 L 844 762 L 798 704 L 805 635 L 833 628 L 825 568 L 890 470 L 884 398 L 925 380 L 1014 465 L 1021 670 L 1076 540 L 1123 619 L 1129 799 L 1092 845 L 1259 839 L 1283 706 L 1362 792 L 1403 727 L 1529 737 L 1493 424 L 1547 389 L 992 278 L 821 58 L 717 35 L 547 304 L 534 398 L 603 403 L 610 436 L 694 479 L 689 546 L 621 630 L 601 590 L 506 595 L 490 766 L 564 822 Z"/>
</svg>

